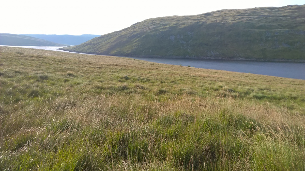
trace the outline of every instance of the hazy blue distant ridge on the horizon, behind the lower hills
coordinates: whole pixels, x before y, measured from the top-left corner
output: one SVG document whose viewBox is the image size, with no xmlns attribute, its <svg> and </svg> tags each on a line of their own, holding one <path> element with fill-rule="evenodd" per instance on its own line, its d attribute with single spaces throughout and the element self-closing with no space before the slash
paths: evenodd
<svg viewBox="0 0 305 171">
<path fill-rule="evenodd" d="M 57 34 L 20 34 L 24 36 L 36 37 L 39 39 L 49 40 L 59 44 L 69 44 L 69 45 L 78 45 L 82 44 L 88 40 L 91 40 L 100 35 L 94 34 L 82 34 L 80 36 L 74 36 L 69 34 L 57 35 Z"/>
</svg>

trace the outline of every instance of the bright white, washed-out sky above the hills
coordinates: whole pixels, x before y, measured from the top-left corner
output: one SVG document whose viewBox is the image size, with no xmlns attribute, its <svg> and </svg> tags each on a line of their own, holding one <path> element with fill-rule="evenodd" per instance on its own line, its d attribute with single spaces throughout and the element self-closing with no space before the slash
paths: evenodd
<svg viewBox="0 0 305 171">
<path fill-rule="evenodd" d="M 149 18 L 303 4 L 305 0 L 0 0 L 0 33 L 103 35 Z"/>
</svg>

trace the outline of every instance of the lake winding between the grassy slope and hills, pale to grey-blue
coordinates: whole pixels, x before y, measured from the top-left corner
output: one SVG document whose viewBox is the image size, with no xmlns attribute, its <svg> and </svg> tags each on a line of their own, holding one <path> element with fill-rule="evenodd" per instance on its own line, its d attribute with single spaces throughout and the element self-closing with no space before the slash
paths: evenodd
<svg viewBox="0 0 305 171">
<path fill-rule="evenodd" d="M 61 47 L 36 47 L 36 46 L 10 46 L 44 49 L 51 51 Z M 75 52 L 69 52 L 75 53 Z M 81 54 L 81 53 L 77 53 Z M 305 79 L 305 63 L 303 62 L 269 62 L 269 61 L 242 61 L 242 60 L 214 60 L 214 59 L 183 59 L 183 58 L 136 58 L 134 59 L 170 64 L 191 66 L 195 68 L 217 69 L 233 72 L 253 73 L 260 75 L 271 75 L 293 79 Z"/>
</svg>

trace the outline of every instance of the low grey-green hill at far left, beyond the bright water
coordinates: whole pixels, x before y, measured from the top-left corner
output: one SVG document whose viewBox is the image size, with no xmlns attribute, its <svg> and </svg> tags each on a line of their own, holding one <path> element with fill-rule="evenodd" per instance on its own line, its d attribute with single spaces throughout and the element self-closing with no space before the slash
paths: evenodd
<svg viewBox="0 0 305 171">
<path fill-rule="evenodd" d="M 66 46 L 48 40 L 18 34 L 0 33 L 0 45 L 10 46 Z"/>
</svg>

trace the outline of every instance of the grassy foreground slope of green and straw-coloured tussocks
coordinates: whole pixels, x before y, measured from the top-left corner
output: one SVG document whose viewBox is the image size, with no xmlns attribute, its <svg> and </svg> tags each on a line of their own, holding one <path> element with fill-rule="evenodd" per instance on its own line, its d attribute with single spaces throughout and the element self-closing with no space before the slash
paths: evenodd
<svg viewBox="0 0 305 171">
<path fill-rule="evenodd" d="M 305 80 L 0 48 L 0 170 L 304 170 Z"/>
</svg>

